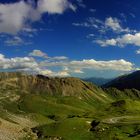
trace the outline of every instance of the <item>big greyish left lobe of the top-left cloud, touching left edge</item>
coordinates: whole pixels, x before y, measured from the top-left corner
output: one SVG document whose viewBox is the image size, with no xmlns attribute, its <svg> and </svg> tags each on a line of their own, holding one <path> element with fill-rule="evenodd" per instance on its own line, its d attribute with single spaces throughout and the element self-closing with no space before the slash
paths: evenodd
<svg viewBox="0 0 140 140">
<path fill-rule="evenodd" d="M 24 1 L 0 4 L 0 33 L 16 34 L 26 25 L 28 20 L 38 20 L 40 17 L 32 15 L 35 10 Z"/>
</svg>

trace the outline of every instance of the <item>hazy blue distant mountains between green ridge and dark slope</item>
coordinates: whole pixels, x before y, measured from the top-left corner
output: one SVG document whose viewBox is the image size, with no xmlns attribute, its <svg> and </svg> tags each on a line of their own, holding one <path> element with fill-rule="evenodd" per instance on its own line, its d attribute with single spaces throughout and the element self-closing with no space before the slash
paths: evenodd
<svg viewBox="0 0 140 140">
<path fill-rule="evenodd" d="M 104 85 L 111 81 L 112 79 L 107 79 L 107 78 L 98 78 L 98 77 L 90 77 L 90 78 L 83 78 L 82 80 L 91 82 L 93 84 L 96 84 L 98 86 Z"/>
</svg>

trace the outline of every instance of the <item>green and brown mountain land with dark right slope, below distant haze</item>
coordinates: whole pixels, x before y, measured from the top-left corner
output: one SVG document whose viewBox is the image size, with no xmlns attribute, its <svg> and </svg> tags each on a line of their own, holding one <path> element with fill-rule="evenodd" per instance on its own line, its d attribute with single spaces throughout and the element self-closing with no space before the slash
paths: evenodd
<svg viewBox="0 0 140 140">
<path fill-rule="evenodd" d="M 0 139 L 139 140 L 140 71 L 102 87 L 78 78 L 0 73 Z"/>
</svg>

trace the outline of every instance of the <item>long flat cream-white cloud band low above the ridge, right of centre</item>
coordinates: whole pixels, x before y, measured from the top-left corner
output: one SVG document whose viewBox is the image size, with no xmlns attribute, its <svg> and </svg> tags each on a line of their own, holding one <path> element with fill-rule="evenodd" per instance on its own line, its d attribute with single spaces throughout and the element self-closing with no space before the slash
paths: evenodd
<svg viewBox="0 0 140 140">
<path fill-rule="evenodd" d="M 69 61 L 69 62 L 47 62 L 43 61 L 40 63 L 42 66 L 54 67 L 61 66 L 67 67 L 68 69 L 82 70 L 82 69 L 93 69 L 93 70 L 113 70 L 113 71 L 132 71 L 134 65 L 131 62 L 121 60 L 110 60 L 110 61 L 97 61 L 94 59 L 84 59 L 81 61 Z M 78 71 L 77 71 L 78 72 Z M 79 71 L 80 72 L 80 71 Z"/>
</svg>

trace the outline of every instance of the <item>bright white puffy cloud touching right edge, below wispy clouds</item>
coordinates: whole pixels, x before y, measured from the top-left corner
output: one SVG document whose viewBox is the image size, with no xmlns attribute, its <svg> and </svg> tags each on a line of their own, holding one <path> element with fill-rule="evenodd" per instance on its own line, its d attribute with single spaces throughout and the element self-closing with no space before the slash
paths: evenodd
<svg viewBox="0 0 140 140">
<path fill-rule="evenodd" d="M 108 40 L 97 40 L 97 43 L 101 46 L 126 46 L 135 45 L 140 46 L 140 33 L 136 34 L 125 34 L 122 37 Z"/>
</svg>

